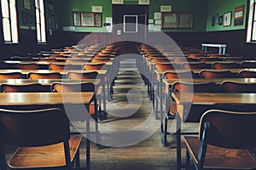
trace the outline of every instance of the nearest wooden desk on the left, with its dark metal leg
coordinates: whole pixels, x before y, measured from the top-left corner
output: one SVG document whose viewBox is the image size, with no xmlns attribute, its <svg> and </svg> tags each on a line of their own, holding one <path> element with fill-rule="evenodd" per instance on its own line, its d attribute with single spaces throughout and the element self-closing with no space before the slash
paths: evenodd
<svg viewBox="0 0 256 170">
<path fill-rule="evenodd" d="M 94 93 L 0 93 L 0 105 L 6 109 L 14 107 L 28 106 L 35 108 L 60 107 L 63 105 L 90 105 L 93 101 Z M 96 105 L 96 104 L 95 104 Z M 19 109 L 20 110 L 20 109 Z M 90 169 L 90 116 L 86 115 L 86 169 Z"/>
</svg>

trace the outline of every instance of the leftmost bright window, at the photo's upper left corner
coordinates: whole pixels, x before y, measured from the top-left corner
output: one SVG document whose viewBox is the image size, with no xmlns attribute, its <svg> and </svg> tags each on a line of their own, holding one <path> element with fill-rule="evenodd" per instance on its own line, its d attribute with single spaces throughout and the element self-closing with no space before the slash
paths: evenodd
<svg viewBox="0 0 256 170">
<path fill-rule="evenodd" d="M 4 42 L 18 42 L 17 14 L 15 0 L 1 0 Z"/>
</svg>

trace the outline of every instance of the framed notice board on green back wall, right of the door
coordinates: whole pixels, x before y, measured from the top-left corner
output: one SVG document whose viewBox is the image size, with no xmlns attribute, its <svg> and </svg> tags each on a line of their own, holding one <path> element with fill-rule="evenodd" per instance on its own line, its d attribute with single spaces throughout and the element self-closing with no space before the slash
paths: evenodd
<svg viewBox="0 0 256 170">
<path fill-rule="evenodd" d="M 162 29 L 193 28 L 193 14 L 180 12 L 163 12 L 161 17 Z"/>
</svg>

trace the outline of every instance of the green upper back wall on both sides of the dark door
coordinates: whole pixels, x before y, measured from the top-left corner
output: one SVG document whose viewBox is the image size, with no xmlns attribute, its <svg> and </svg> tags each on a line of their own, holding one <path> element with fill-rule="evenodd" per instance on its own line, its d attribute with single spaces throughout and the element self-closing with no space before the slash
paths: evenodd
<svg viewBox="0 0 256 170">
<path fill-rule="evenodd" d="M 61 2 L 60 2 L 61 1 Z M 59 3 L 58 3 L 59 2 Z M 164 29 L 165 32 L 190 32 L 206 31 L 207 25 L 207 1 L 206 0 L 150 0 L 148 17 L 154 18 L 154 12 L 160 12 L 160 5 L 172 5 L 174 12 L 192 12 L 194 14 L 194 27 L 192 29 Z M 102 6 L 102 23 L 106 22 L 106 17 L 112 17 L 112 0 L 54 0 L 55 20 L 59 30 L 64 27 L 73 26 L 73 12 L 91 12 L 91 6 Z M 61 3 L 61 7 L 60 7 Z M 134 1 L 124 1 L 124 4 L 137 4 Z M 196 5 L 195 5 L 196 4 Z M 104 26 L 99 27 L 75 27 L 75 31 L 106 32 Z"/>
</svg>

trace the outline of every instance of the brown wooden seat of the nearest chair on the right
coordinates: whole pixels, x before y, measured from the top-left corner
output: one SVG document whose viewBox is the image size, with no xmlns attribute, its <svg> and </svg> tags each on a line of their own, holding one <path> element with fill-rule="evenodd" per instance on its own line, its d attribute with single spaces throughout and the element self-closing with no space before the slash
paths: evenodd
<svg viewBox="0 0 256 170">
<path fill-rule="evenodd" d="M 198 137 L 184 137 L 184 141 L 189 152 L 193 154 L 194 161 L 198 163 L 197 156 L 201 141 Z M 227 149 L 208 144 L 204 165 L 204 169 L 255 169 L 256 160 L 248 150 Z"/>
</svg>

